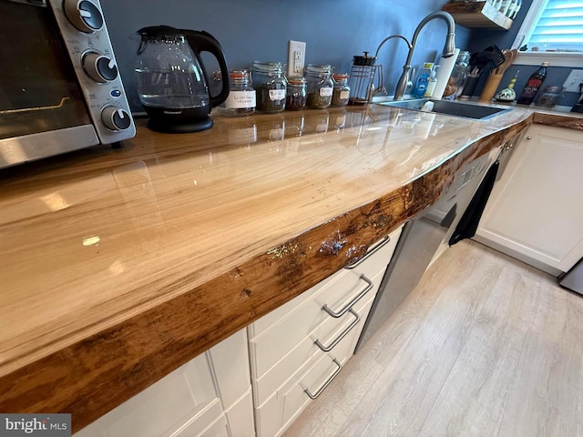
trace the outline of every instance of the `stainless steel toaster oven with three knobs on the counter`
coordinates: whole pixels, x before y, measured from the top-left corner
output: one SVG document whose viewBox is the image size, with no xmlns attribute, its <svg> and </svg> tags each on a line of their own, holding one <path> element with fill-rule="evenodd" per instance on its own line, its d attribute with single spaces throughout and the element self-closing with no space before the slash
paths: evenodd
<svg viewBox="0 0 583 437">
<path fill-rule="evenodd" d="M 136 135 L 98 0 L 0 2 L 0 168 Z"/>
</svg>

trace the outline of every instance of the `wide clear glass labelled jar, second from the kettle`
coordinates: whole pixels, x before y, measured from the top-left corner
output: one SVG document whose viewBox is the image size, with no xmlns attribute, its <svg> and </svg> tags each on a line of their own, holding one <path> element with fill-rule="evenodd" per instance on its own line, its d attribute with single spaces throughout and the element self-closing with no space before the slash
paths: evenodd
<svg viewBox="0 0 583 437">
<path fill-rule="evenodd" d="M 281 62 L 254 61 L 251 76 L 257 92 L 258 111 L 276 113 L 285 109 L 287 84 Z"/>
</svg>

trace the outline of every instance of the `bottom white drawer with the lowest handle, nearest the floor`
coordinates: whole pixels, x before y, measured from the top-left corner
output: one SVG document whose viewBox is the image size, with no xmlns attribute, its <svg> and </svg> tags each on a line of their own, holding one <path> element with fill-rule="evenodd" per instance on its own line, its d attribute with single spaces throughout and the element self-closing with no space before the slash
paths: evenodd
<svg viewBox="0 0 583 437">
<path fill-rule="evenodd" d="M 358 340 L 356 334 L 354 332 L 345 337 L 334 351 L 315 355 L 256 409 L 258 437 L 276 437 L 285 431 L 311 401 L 305 389 L 314 394 L 326 381 L 331 380 L 339 369 L 334 359 L 341 364 L 348 361 Z"/>
</svg>

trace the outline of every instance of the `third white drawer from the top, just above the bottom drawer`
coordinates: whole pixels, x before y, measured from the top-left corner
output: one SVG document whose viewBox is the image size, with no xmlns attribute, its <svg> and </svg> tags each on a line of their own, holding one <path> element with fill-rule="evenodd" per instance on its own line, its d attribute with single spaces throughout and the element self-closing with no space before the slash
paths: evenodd
<svg viewBox="0 0 583 437">
<path fill-rule="evenodd" d="M 379 274 L 377 278 L 381 279 L 382 274 Z M 371 295 L 368 300 L 361 301 L 354 306 L 354 312 L 358 314 L 360 320 L 353 329 L 349 331 L 347 336 L 355 334 L 358 339 L 363 330 L 364 321 L 373 306 L 373 300 L 374 295 Z M 257 380 L 253 379 L 251 384 L 255 391 L 255 405 L 261 405 L 261 403 L 266 401 L 273 392 L 281 386 L 281 384 L 290 379 L 290 375 L 307 365 L 312 359 L 322 355 L 322 350 L 315 344 L 315 340 L 320 340 L 323 345 L 330 345 L 333 339 L 338 338 L 338 336 L 340 336 L 345 330 L 350 328 L 353 320 L 355 319 L 350 313 L 345 314 L 345 317 L 342 319 L 329 318 L 328 320 L 324 320 L 320 327 L 314 330 L 311 335 L 305 337 L 269 371 Z M 335 353 L 336 348 L 338 348 L 339 345 L 340 343 L 336 345 L 330 353 Z"/>
</svg>

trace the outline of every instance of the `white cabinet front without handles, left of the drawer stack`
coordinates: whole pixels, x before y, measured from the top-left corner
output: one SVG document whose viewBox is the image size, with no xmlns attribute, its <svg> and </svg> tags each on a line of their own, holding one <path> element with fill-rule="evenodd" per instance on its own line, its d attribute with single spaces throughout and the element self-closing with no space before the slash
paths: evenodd
<svg viewBox="0 0 583 437">
<path fill-rule="evenodd" d="M 75 437 L 252 437 L 246 330 L 172 371 Z"/>
</svg>

